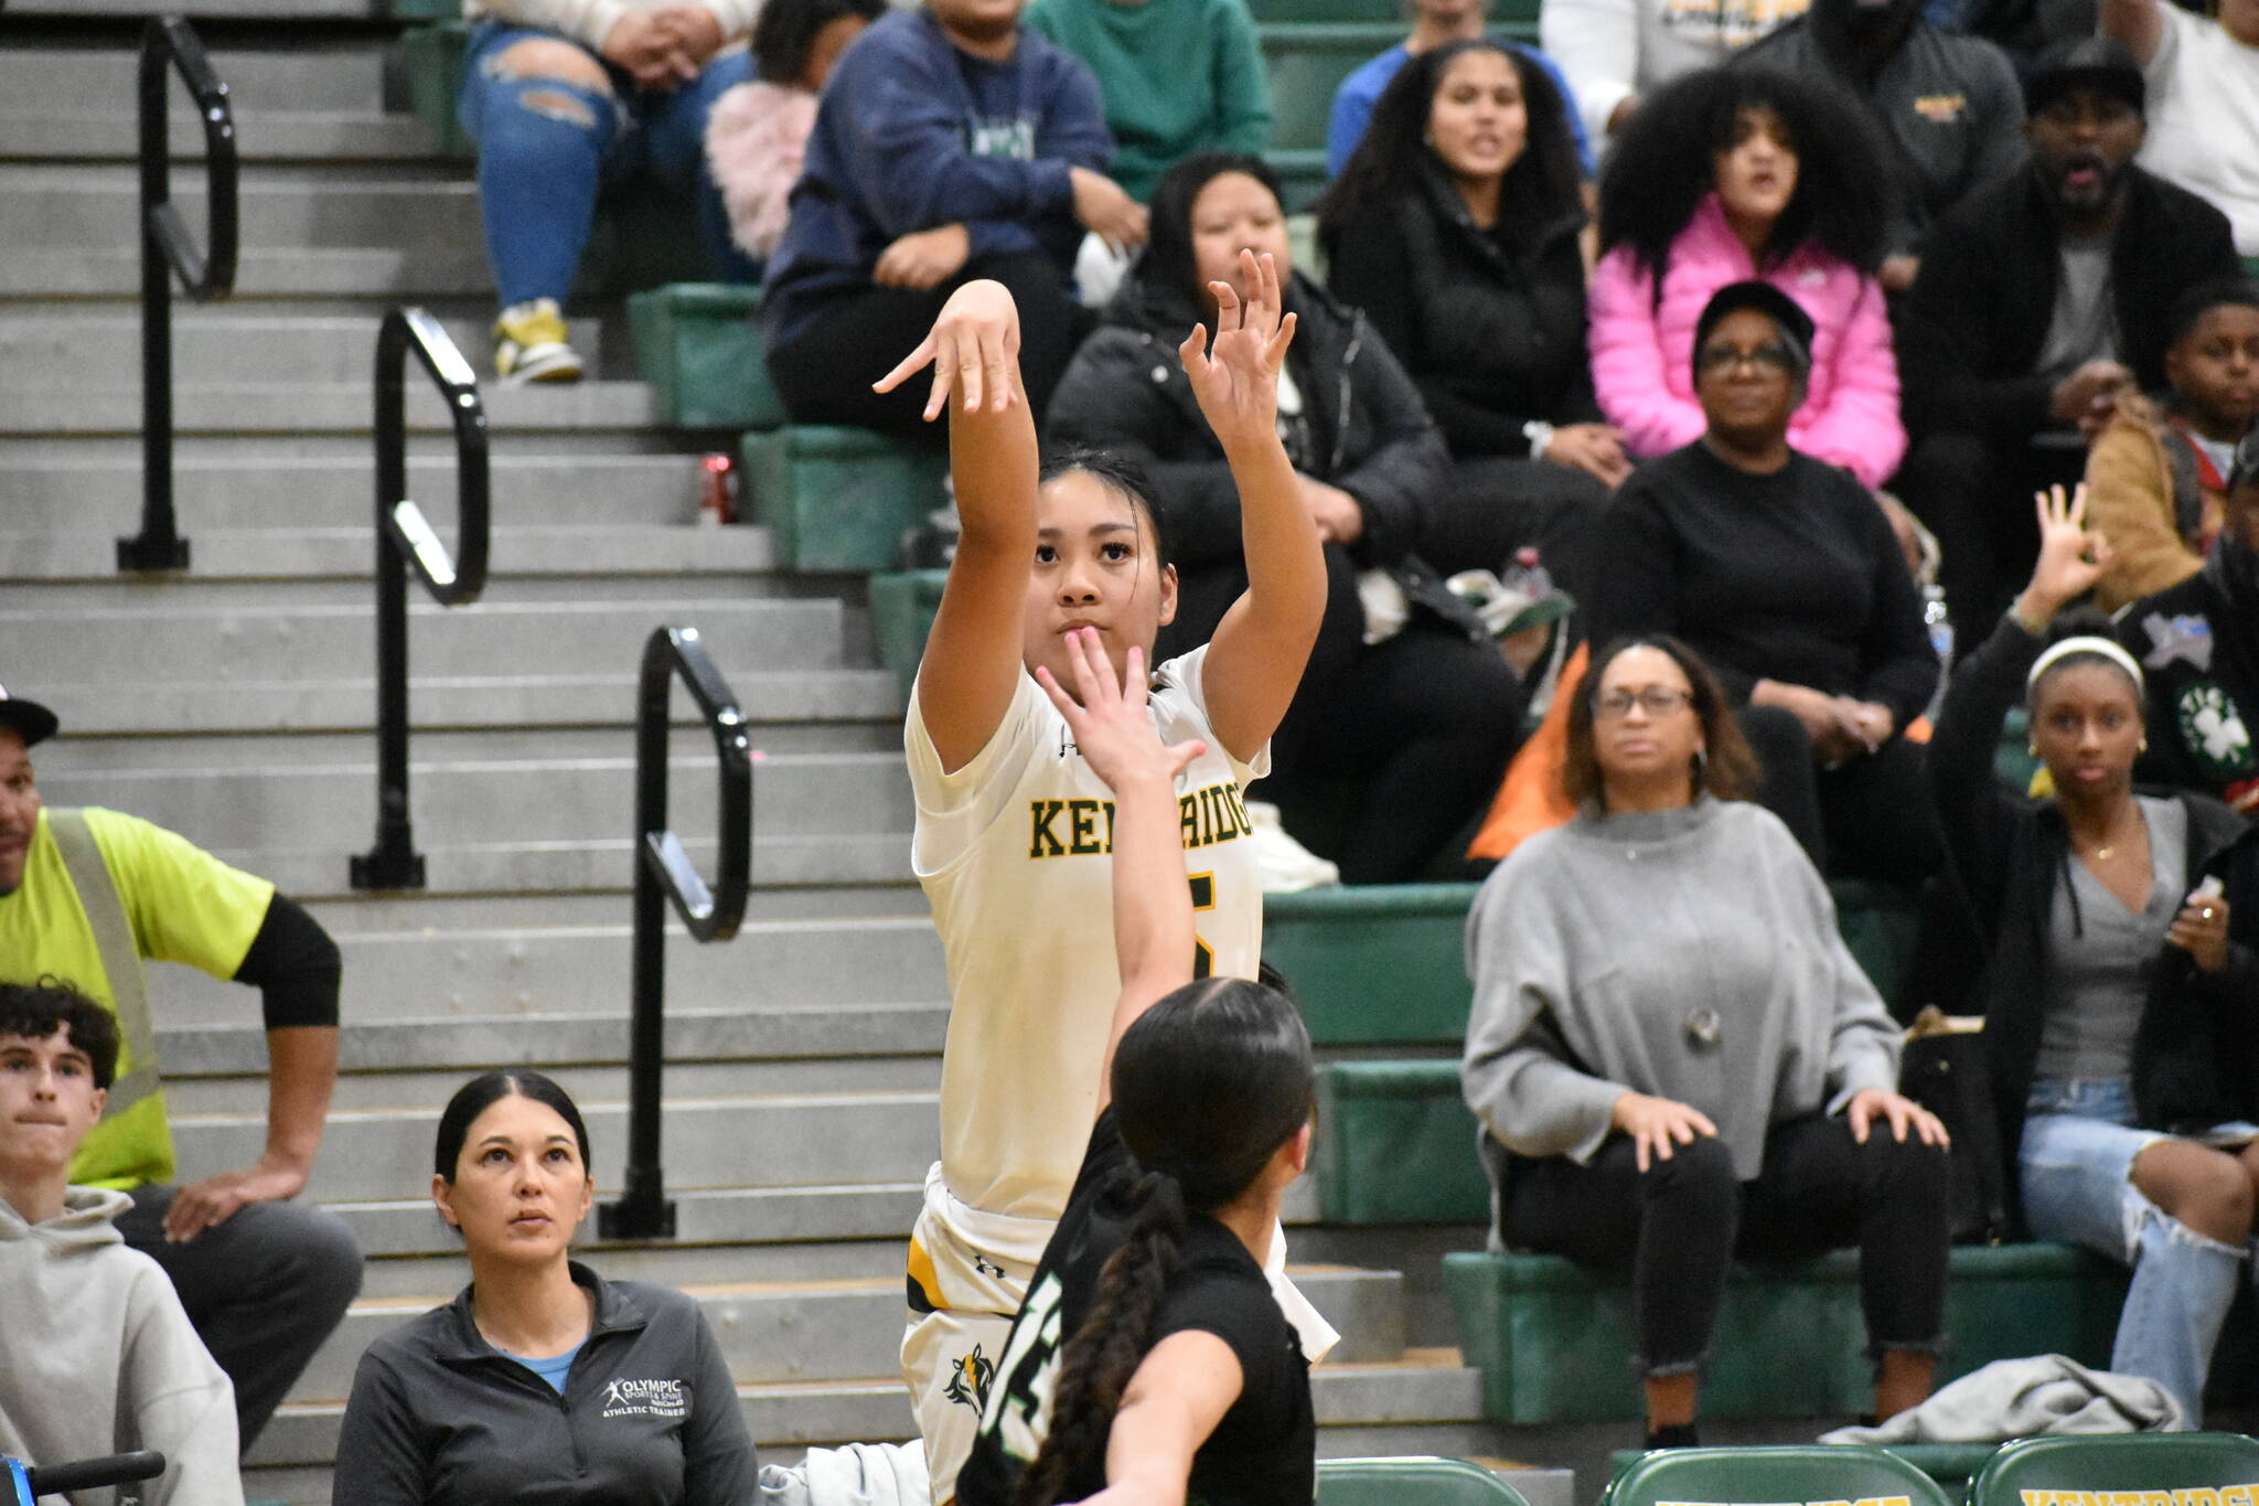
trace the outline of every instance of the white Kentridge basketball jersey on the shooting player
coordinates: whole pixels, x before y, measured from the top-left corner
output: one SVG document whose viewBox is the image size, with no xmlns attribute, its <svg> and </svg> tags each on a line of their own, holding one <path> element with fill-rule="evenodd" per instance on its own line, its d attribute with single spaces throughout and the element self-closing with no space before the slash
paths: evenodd
<svg viewBox="0 0 2259 1506">
<path fill-rule="evenodd" d="M 1270 772 L 1270 750 L 1251 765 L 1222 750 L 1202 698 L 1206 657 L 1195 648 L 1163 664 L 1148 711 L 1163 743 L 1209 745 L 1177 777 L 1195 973 L 1254 978 L 1263 890 L 1242 786 Z M 942 1172 L 974 1208 L 1057 1219 L 1091 1138 L 1120 993 L 1114 795 L 1026 671 L 996 736 L 958 772 L 942 772 L 915 695 L 904 745 L 917 793 L 910 863 L 949 960 Z"/>
</svg>

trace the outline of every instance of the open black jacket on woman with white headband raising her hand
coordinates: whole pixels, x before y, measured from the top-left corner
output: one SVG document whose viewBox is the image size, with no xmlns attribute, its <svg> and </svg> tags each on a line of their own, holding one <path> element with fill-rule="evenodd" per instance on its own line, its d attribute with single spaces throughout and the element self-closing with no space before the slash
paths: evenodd
<svg viewBox="0 0 2259 1506">
<path fill-rule="evenodd" d="M 2040 1057 L 2047 1000 L 2047 926 L 2072 863 L 2069 829 L 2051 799 L 2029 799 L 1992 772 L 1999 723 L 2024 693 L 2040 639 L 2004 616 L 1954 668 L 1929 743 L 1929 783 L 1947 851 L 1968 890 L 1990 962 L 1977 998 L 1986 1014 L 1992 1111 L 2017 1185 L 2024 1097 Z M 2227 887 L 2227 969 L 2205 973 L 2166 946 L 2151 975 L 2132 1043 L 2132 1102 L 2146 1129 L 2198 1129 L 2259 1111 L 2259 829 L 2205 795 L 2178 795 L 2189 813 L 2182 894 L 2205 876 Z"/>
</svg>

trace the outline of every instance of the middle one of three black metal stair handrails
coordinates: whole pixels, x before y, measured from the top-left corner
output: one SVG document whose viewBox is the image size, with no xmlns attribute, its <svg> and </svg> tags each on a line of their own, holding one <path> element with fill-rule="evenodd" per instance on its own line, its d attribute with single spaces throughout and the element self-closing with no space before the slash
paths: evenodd
<svg viewBox="0 0 2259 1506">
<path fill-rule="evenodd" d="M 409 501 L 407 359 L 438 386 L 454 424 L 456 551 Z M 355 890 L 425 887 L 409 826 L 409 571 L 443 607 L 486 589 L 492 494 L 479 377 L 422 309 L 391 309 L 377 330 L 377 844 L 352 858 Z"/>
</svg>

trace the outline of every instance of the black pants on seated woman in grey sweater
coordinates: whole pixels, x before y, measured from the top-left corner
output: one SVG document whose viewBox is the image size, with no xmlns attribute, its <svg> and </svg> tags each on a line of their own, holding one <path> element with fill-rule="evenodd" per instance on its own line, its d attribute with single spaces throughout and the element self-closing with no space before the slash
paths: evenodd
<svg viewBox="0 0 2259 1506">
<path fill-rule="evenodd" d="M 1642 1375 L 1701 1368 L 1735 1251 L 1789 1260 L 1857 1244 L 1868 1352 L 1936 1352 L 1945 1339 L 1945 1152 L 1911 1131 L 1893 1140 L 1889 1122 L 1859 1145 L 1839 1115 L 1782 1120 L 1746 1183 L 1721 1140 L 1681 1145 L 1647 1172 L 1626 1136 L 1588 1165 L 1507 1156 L 1498 1233 L 1511 1249 L 1629 1267 Z"/>
</svg>

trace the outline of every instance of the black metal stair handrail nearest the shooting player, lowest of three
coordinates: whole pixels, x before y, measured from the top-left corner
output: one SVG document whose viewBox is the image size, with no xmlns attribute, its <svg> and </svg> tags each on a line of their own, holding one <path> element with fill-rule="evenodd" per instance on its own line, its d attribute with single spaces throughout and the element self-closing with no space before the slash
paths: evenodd
<svg viewBox="0 0 2259 1506">
<path fill-rule="evenodd" d="M 689 689 L 721 761 L 721 842 L 714 885 L 698 876 L 666 826 L 669 693 Z M 628 1179 L 596 1210 L 605 1240 L 673 1240 L 675 1206 L 660 1170 L 660 1077 L 666 1066 L 666 910 L 698 942 L 727 942 L 745 919 L 752 883 L 752 743 L 736 693 L 714 668 L 696 628 L 660 628 L 644 643 L 635 689 L 635 1014 L 628 1021 Z"/>
</svg>

